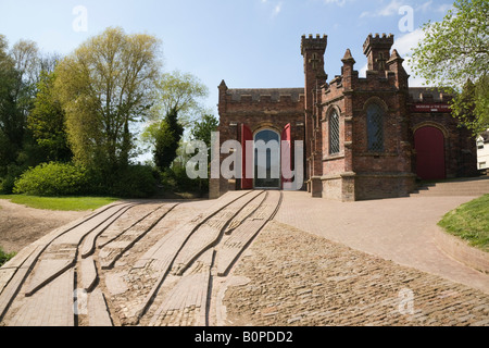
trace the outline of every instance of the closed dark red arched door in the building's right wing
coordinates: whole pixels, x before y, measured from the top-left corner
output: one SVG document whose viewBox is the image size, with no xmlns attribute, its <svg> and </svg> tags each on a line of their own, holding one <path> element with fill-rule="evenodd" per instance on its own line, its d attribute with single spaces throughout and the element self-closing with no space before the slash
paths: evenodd
<svg viewBox="0 0 489 348">
<path fill-rule="evenodd" d="M 447 177 L 444 163 L 444 136 L 436 127 L 423 127 L 414 134 L 417 176 L 425 181 Z"/>
</svg>

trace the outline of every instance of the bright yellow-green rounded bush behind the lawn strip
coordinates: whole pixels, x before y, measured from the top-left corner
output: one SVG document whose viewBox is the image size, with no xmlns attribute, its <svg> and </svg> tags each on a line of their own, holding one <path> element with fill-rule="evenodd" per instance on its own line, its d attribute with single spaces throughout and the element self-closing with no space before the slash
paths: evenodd
<svg viewBox="0 0 489 348">
<path fill-rule="evenodd" d="M 90 178 L 88 171 L 73 163 L 43 163 L 15 182 L 14 194 L 34 196 L 76 196 L 87 194 Z"/>
</svg>

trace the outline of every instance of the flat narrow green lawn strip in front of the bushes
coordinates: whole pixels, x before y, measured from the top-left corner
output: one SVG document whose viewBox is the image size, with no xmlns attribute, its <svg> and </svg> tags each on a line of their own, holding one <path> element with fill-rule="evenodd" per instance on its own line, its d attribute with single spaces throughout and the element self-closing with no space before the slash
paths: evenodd
<svg viewBox="0 0 489 348">
<path fill-rule="evenodd" d="M 0 199 L 8 199 L 12 203 L 29 208 L 58 211 L 95 210 L 117 200 L 117 198 L 112 197 L 37 197 L 24 195 L 0 195 Z"/>
</svg>

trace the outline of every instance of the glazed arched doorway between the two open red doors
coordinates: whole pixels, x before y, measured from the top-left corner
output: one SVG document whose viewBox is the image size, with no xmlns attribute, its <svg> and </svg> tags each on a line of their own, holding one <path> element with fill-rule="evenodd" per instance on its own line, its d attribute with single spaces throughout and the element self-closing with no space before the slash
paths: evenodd
<svg viewBox="0 0 489 348">
<path fill-rule="evenodd" d="M 254 188 L 279 189 L 280 135 L 263 129 L 254 135 Z"/>
</svg>

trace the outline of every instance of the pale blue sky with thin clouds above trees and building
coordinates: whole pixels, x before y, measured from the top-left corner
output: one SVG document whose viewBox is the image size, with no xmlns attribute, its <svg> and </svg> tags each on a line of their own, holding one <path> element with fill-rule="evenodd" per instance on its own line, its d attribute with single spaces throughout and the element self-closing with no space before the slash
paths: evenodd
<svg viewBox="0 0 489 348">
<path fill-rule="evenodd" d="M 326 73 L 340 74 L 350 48 L 355 69 L 365 70 L 362 46 L 369 33 L 392 33 L 405 57 L 422 38 L 419 27 L 440 21 L 452 0 L 0 0 L 0 34 L 45 52 L 67 54 L 109 26 L 147 33 L 163 41 L 164 70 L 188 72 L 210 89 L 203 102 L 216 113 L 217 86 L 302 87 L 302 35 L 328 35 Z M 86 32 L 73 23 L 87 11 Z M 400 27 L 409 7 L 412 28 Z M 79 23 L 79 22 L 77 22 Z M 421 82 L 413 79 L 412 86 Z"/>
</svg>

